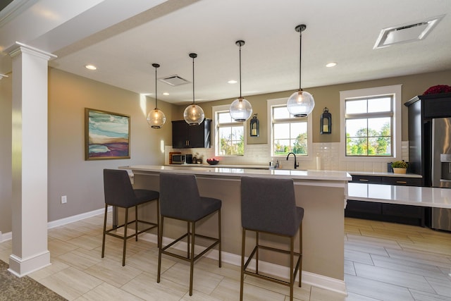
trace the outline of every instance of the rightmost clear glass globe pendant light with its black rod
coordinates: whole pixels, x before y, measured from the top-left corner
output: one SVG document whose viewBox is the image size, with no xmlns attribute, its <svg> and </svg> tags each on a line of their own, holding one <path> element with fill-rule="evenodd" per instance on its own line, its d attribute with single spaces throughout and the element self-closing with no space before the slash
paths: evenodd
<svg viewBox="0 0 451 301">
<path fill-rule="evenodd" d="M 302 32 L 306 25 L 297 25 L 295 30 L 299 32 L 299 90 L 291 94 L 287 102 L 287 109 L 295 117 L 306 117 L 313 111 L 315 100 L 309 92 L 302 91 L 301 86 L 301 61 L 302 61 Z"/>
</svg>

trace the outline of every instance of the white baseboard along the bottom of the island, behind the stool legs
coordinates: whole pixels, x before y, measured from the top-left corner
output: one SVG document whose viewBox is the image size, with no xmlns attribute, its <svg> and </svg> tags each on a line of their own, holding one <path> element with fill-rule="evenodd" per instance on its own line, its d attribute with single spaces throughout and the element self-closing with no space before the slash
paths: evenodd
<svg viewBox="0 0 451 301">
<path fill-rule="evenodd" d="M 149 242 L 157 243 L 157 235 L 152 233 L 142 233 L 140 235 L 142 240 L 147 240 Z M 169 243 L 172 240 L 170 238 L 163 238 L 163 244 Z M 186 242 L 178 242 L 174 245 L 174 247 L 178 250 L 186 250 Z M 202 252 L 202 247 L 197 247 L 195 252 L 199 254 Z M 233 264 L 235 266 L 241 266 L 241 255 L 222 252 L 222 262 L 226 262 L 227 264 Z M 218 259 L 218 250 L 210 250 L 206 252 L 206 257 L 211 259 Z M 254 260 L 249 264 L 249 266 L 254 265 Z M 261 262 L 259 261 L 259 270 L 268 273 L 274 276 L 278 276 L 279 278 L 285 278 L 287 275 L 290 275 L 290 268 L 287 266 L 280 266 L 278 264 L 271 264 L 271 262 Z M 343 280 L 330 278 L 327 276 L 310 273 L 308 271 L 302 271 L 302 283 L 306 283 L 309 285 L 314 285 L 318 288 L 324 288 L 326 290 L 332 290 L 335 293 L 340 293 L 342 295 L 347 295 L 346 283 Z"/>
</svg>

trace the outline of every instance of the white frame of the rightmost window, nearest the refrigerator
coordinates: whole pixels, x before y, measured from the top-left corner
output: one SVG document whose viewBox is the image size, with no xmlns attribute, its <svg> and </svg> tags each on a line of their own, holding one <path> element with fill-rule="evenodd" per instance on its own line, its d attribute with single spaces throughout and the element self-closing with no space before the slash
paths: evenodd
<svg viewBox="0 0 451 301">
<path fill-rule="evenodd" d="M 345 103 L 350 99 L 364 99 L 387 96 L 393 97 L 392 109 L 393 109 L 393 121 L 392 121 L 392 151 L 391 156 L 346 156 L 346 114 Z M 402 102 L 402 85 L 390 85 L 383 87 L 372 87 L 358 90 L 340 91 L 340 158 L 345 161 L 381 161 L 386 162 L 388 160 L 400 160 L 402 157 L 402 131 L 401 131 L 401 102 Z M 385 113 L 367 113 L 369 116 L 387 116 Z"/>
</svg>

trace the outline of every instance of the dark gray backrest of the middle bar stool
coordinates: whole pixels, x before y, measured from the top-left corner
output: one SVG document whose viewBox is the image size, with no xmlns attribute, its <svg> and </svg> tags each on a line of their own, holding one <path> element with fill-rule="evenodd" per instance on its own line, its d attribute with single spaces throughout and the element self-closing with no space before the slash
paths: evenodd
<svg viewBox="0 0 451 301">
<path fill-rule="evenodd" d="M 160 212 L 163 216 L 191 219 L 202 210 L 196 176 L 160 173 Z"/>
</svg>

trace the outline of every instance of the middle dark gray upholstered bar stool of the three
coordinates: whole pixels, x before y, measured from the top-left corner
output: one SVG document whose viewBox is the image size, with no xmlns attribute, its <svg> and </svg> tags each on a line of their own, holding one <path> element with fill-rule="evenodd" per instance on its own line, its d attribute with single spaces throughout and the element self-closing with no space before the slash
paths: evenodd
<svg viewBox="0 0 451 301">
<path fill-rule="evenodd" d="M 192 295 L 192 276 L 194 262 L 202 257 L 207 251 L 218 245 L 219 267 L 221 267 L 221 199 L 211 197 L 201 197 L 197 188 L 196 176 L 178 173 L 160 174 L 160 212 L 161 226 L 159 233 L 159 254 L 158 254 L 158 275 L 156 282 L 160 282 L 161 274 L 161 254 L 167 254 L 178 259 L 190 262 L 190 296 Z M 196 223 L 215 212 L 218 212 L 218 238 L 213 238 L 196 233 Z M 178 219 L 187 222 L 187 233 L 173 240 L 165 247 L 162 245 L 164 219 Z M 190 229 L 191 228 L 191 229 Z M 202 252 L 194 254 L 195 238 L 211 240 L 212 243 Z M 169 252 L 168 248 L 176 242 L 187 238 L 187 256 Z"/>
</svg>

